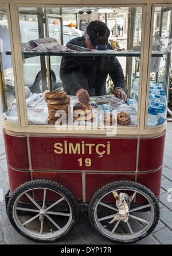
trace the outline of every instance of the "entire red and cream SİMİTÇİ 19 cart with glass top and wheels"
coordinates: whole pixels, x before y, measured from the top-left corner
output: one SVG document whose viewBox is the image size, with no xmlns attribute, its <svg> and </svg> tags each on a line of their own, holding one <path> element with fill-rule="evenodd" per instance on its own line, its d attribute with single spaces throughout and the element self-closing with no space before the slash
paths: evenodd
<svg viewBox="0 0 172 256">
<path fill-rule="evenodd" d="M 54 242 L 88 210 L 113 242 L 145 238 L 159 219 L 172 4 L 4 2 L 0 106 L 11 224 Z"/>
</svg>

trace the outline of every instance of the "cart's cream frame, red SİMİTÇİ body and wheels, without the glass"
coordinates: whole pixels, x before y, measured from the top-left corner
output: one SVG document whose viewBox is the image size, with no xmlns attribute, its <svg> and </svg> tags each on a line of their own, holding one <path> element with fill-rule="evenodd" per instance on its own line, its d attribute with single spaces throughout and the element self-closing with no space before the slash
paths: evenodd
<svg viewBox="0 0 172 256">
<path fill-rule="evenodd" d="M 138 122 L 136 127 L 119 127 L 115 137 L 107 136 L 107 131 L 101 127 L 86 133 L 84 127 L 76 130 L 68 126 L 59 132 L 54 125 L 28 125 L 18 7 L 67 5 L 143 8 L 142 45 L 140 53 L 135 54 L 140 56 Z M 9 0 L 5 3 L 0 0 L 0 7 L 3 6 L 9 20 L 18 112 L 18 124 L 2 120 L 10 184 L 6 196 L 7 213 L 15 230 L 37 242 L 53 242 L 71 230 L 79 210 L 88 209 L 92 226 L 105 238 L 130 243 L 146 237 L 159 218 L 166 129 L 166 122 L 147 127 L 152 17 L 156 6 L 172 5 L 160 0 L 130 3 L 121 0 L 115 5 L 112 1 L 105 5 L 96 1 L 92 5 L 90 1 L 38 0 L 36 4 L 34 1 Z M 151 158 L 150 152 L 153 152 Z M 114 219 L 119 212 L 114 201 L 121 193 L 128 196 L 130 218 L 141 223 L 137 231 L 132 228 L 132 221 L 126 220 L 119 228 L 121 219 Z M 148 219 L 139 216 L 145 211 L 150 213 Z M 52 226 L 50 229 L 45 227 L 45 219 Z M 36 220 L 38 223 L 34 222 Z"/>
</svg>

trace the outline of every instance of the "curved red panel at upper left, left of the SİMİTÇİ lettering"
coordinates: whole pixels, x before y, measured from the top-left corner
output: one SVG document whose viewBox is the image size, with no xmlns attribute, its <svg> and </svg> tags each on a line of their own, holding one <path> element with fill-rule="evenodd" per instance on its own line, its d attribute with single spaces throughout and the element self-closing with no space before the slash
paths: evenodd
<svg viewBox="0 0 172 256">
<path fill-rule="evenodd" d="M 7 164 L 16 169 L 29 169 L 26 136 L 14 136 L 3 129 Z"/>
</svg>

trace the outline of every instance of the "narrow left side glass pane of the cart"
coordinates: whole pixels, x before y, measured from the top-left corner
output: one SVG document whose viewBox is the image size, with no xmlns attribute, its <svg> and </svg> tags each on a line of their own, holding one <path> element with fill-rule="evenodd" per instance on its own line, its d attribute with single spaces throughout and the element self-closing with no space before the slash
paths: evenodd
<svg viewBox="0 0 172 256">
<path fill-rule="evenodd" d="M 13 63 L 11 55 L 7 54 L 10 48 L 7 10 L 0 7 L 0 109 L 3 119 L 18 123 Z"/>
</svg>

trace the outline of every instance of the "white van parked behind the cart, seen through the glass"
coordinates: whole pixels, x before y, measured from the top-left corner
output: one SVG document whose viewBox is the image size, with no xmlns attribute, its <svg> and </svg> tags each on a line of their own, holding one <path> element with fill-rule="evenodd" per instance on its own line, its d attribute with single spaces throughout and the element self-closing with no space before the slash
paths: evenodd
<svg viewBox="0 0 172 256">
<path fill-rule="evenodd" d="M 33 39 L 38 39 L 38 23 L 33 21 L 19 21 L 21 43 L 28 43 Z M 63 27 L 64 45 L 71 39 L 79 36 L 83 36 L 84 32 L 76 29 Z M 56 38 L 58 43 L 61 44 L 61 30 L 59 25 L 49 24 L 49 37 Z M 52 90 L 62 86 L 62 82 L 59 76 L 61 56 L 50 56 L 50 68 L 51 68 L 51 81 Z M 33 93 L 39 93 L 41 91 L 41 64 L 40 56 L 28 58 L 24 60 L 24 82 L 25 86 L 30 87 Z M 9 72 L 6 72 L 9 74 Z M 5 81 L 9 81 L 9 77 L 5 77 Z M 10 80 L 11 79 L 10 77 Z M 14 85 L 14 81 L 11 81 L 11 85 Z"/>
</svg>

